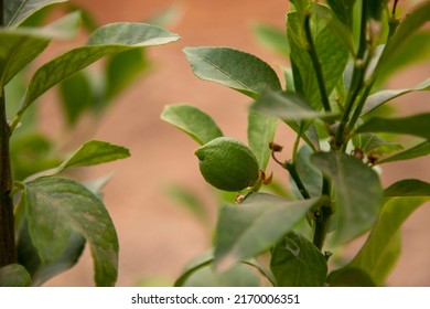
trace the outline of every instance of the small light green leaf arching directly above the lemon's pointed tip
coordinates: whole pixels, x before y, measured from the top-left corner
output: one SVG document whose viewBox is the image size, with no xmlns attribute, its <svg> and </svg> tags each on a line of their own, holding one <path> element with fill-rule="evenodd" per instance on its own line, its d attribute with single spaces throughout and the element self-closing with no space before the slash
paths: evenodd
<svg viewBox="0 0 430 309">
<path fill-rule="evenodd" d="M 181 129 L 200 145 L 223 136 L 211 116 L 194 106 L 185 104 L 165 106 L 161 119 Z"/>
</svg>

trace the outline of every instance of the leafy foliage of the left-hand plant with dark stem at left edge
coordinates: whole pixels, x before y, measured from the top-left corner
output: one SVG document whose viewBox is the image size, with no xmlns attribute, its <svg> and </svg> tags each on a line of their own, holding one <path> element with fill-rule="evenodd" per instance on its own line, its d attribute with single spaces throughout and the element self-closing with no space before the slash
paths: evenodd
<svg viewBox="0 0 430 309">
<path fill-rule="evenodd" d="M 68 110 L 67 119 L 73 125 L 92 97 L 87 92 L 89 88 L 85 87 L 87 79 L 83 77 L 82 70 L 101 57 L 109 57 L 104 96 L 110 99 L 135 77 L 135 73 L 140 72 L 139 65 L 132 70 L 130 63 L 122 66 L 123 61 L 117 55 L 130 62 L 132 55 L 138 55 L 139 60 L 142 47 L 179 40 L 176 34 L 146 23 L 121 22 L 94 29 L 84 45 L 68 50 L 35 70 L 28 85 L 24 85 L 18 108 L 13 110 L 10 106 L 14 102 L 9 100 L 9 95 L 12 98 L 15 95 L 6 87 L 20 78 L 22 71 L 33 63 L 52 40 L 72 38 L 78 30 L 79 14 L 76 12 L 47 25 L 30 26 L 41 12 L 57 2 L 66 1 L 13 0 L 6 1 L 4 7 L 1 7 L 0 227 L 1 232 L 12 228 L 8 233 L 0 233 L 0 286 L 42 285 L 74 266 L 86 243 L 94 260 L 95 284 L 115 285 L 118 276 L 118 237 L 101 201 L 101 188 L 108 179 L 83 183 L 64 175 L 74 168 L 125 159 L 130 156 L 129 150 L 106 141 L 90 140 L 63 161 L 43 161 L 50 152 L 50 143 L 42 136 L 23 134 L 26 124 L 31 121 L 26 116 L 41 96 L 61 84 Z M 117 70 L 118 65 L 122 71 Z M 76 87 L 84 89 L 83 93 L 76 93 Z M 71 94 L 71 89 L 75 89 L 75 93 Z M 74 104 L 80 105 L 76 107 Z M 6 108 L 11 114 L 10 120 Z M 19 142 L 10 143 L 11 138 L 20 135 Z M 20 163 L 28 162 L 26 158 L 17 153 L 33 158 L 40 156 L 35 161 L 42 160 L 42 163 L 22 169 Z M 29 171 L 36 173 L 31 174 Z M 9 205 L 13 214 L 3 217 Z M 12 248 L 8 243 L 10 239 L 12 244 L 15 242 Z"/>
</svg>

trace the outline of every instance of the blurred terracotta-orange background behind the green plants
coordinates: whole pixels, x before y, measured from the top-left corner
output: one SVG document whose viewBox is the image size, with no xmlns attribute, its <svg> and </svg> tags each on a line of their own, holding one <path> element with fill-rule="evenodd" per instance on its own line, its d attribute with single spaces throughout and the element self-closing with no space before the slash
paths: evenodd
<svg viewBox="0 0 430 309">
<path fill-rule="evenodd" d="M 180 274 L 185 263 L 209 247 L 208 231 L 213 227 L 216 203 L 212 189 L 200 175 L 193 156 L 196 143 L 187 136 L 160 120 L 163 106 L 190 103 L 209 113 L 226 136 L 246 141 L 246 108 L 249 99 L 232 89 L 196 78 L 185 60 L 184 46 L 230 46 L 256 54 L 271 66 L 284 61 L 259 45 L 250 31 L 252 23 L 266 22 L 283 26 L 287 0 L 79 0 L 97 20 L 141 21 L 173 3 L 182 8 L 182 18 L 171 30 L 182 40 L 152 47 L 154 71 L 139 79 L 119 98 L 103 118 L 94 138 L 128 147 L 132 157 L 89 170 L 96 178 L 115 171 L 106 188 L 105 201 L 116 224 L 120 242 L 118 286 L 138 281 L 168 284 Z M 58 47 L 61 49 L 61 47 Z M 390 82 L 391 87 L 412 86 L 428 77 L 429 63 L 409 70 Z M 278 70 L 279 74 L 279 70 Z M 280 75 L 280 74 L 279 74 Z M 42 129 L 53 132 L 55 102 L 43 106 Z M 406 113 L 424 109 L 426 94 L 409 95 L 397 100 Z M 428 108 L 427 108 L 428 110 Z M 61 135 L 53 132 L 61 138 Z M 277 141 L 290 153 L 292 135 L 280 126 Z M 275 177 L 286 178 L 273 164 Z M 389 184 L 400 178 L 430 181 L 429 159 L 387 164 L 383 181 Z M 171 183 L 194 189 L 206 201 L 212 225 L 202 227 L 163 192 Z M 417 211 L 404 227 L 404 254 L 388 279 L 391 286 L 430 286 L 430 206 Z M 353 254 L 355 246 L 351 246 Z M 50 286 L 90 286 L 93 265 L 88 251 L 78 265 L 49 281 Z"/>
</svg>

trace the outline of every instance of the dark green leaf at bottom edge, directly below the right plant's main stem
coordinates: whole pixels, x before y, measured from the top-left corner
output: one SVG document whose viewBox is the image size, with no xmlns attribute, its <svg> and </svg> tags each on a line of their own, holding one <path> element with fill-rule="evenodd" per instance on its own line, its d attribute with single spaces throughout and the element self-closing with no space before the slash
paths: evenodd
<svg viewBox="0 0 430 309">
<path fill-rule="evenodd" d="M 311 242 L 291 232 L 275 246 L 270 269 L 278 287 L 322 287 L 327 262 Z"/>
</svg>

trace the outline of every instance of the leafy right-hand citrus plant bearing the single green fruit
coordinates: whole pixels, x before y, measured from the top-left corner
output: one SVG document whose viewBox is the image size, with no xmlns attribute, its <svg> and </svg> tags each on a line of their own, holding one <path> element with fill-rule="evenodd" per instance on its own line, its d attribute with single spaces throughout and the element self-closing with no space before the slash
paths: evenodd
<svg viewBox="0 0 430 309">
<path fill-rule="evenodd" d="M 429 200 L 428 182 L 404 179 L 384 188 L 378 171 L 387 162 L 430 152 L 429 113 L 390 116 L 386 109 L 394 98 L 429 90 L 430 79 L 384 88 L 398 70 L 428 58 L 429 41 L 419 38 L 429 36 L 421 28 L 430 20 L 430 2 L 400 18 L 397 1 L 291 0 L 290 9 L 283 35 L 257 28 L 266 45 L 288 56 L 283 84 L 249 53 L 184 49 L 197 77 L 251 103 L 248 146 L 240 143 L 246 151 L 237 153 L 230 150 L 234 139 L 219 142 L 222 130 L 196 107 L 166 106 L 161 116 L 201 145 L 200 160 L 215 143 L 202 174 L 212 185 L 239 194 L 235 204 L 219 209 L 214 248 L 190 263 L 176 286 L 254 286 L 254 270 L 273 286 L 384 285 L 400 255 L 400 226 Z M 281 122 L 297 137 L 286 161 L 273 142 Z M 409 139 L 399 142 L 400 136 Z M 291 194 L 244 182 L 254 177 L 255 161 L 267 173 L 270 158 L 289 174 L 290 188 L 283 191 Z M 336 264 L 336 248 L 366 233 L 355 257 Z M 265 258 L 257 262 L 260 255 Z M 243 280 L 233 279 L 234 274 Z"/>
</svg>

